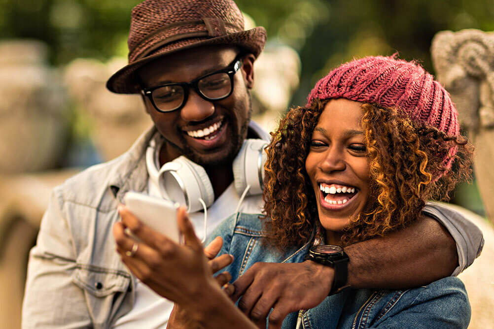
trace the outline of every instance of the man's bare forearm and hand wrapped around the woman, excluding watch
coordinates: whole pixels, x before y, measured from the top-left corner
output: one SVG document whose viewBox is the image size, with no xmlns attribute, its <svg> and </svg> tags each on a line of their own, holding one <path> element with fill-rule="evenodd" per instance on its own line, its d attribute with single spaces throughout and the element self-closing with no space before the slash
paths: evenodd
<svg viewBox="0 0 494 329">
<path fill-rule="evenodd" d="M 462 220 L 468 222 L 464 217 Z M 427 216 L 385 237 L 347 246 L 345 252 L 350 258 L 347 283 L 354 288 L 422 286 L 451 275 L 458 266 L 452 235 Z M 290 312 L 321 303 L 331 290 L 333 278 L 331 267 L 309 260 L 299 264 L 259 263 L 234 282 L 232 299 L 242 297 L 240 309 L 257 324 L 265 321 L 273 307 L 268 320 L 278 324 Z"/>
</svg>

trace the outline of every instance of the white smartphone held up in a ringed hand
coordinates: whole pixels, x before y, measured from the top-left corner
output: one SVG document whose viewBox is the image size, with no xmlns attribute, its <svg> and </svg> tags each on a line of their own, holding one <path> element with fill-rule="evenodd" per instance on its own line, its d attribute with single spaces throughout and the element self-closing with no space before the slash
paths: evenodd
<svg viewBox="0 0 494 329">
<path fill-rule="evenodd" d="M 128 210 L 143 223 L 176 243 L 182 242 L 177 225 L 178 203 L 134 191 L 125 194 L 124 202 Z M 132 237 L 137 238 L 134 235 Z"/>
</svg>

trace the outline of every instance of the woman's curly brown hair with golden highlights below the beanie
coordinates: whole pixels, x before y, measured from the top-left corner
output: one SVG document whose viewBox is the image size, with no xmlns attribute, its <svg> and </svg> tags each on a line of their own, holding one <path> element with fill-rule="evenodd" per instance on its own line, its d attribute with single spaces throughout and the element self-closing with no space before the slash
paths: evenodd
<svg viewBox="0 0 494 329">
<path fill-rule="evenodd" d="M 315 99 L 310 107 L 290 110 L 271 133 L 265 164 L 264 226 L 271 238 L 268 243 L 281 250 L 306 243 L 319 221 L 305 160 L 312 132 L 328 102 Z M 362 110 L 371 190 L 375 192 L 364 211 L 350 219 L 341 238 L 344 245 L 409 225 L 427 200 L 449 199 L 455 184 L 471 175 L 473 146 L 466 138 L 413 122 L 397 109 L 363 104 Z M 450 159 L 446 162 L 445 158 Z"/>
</svg>

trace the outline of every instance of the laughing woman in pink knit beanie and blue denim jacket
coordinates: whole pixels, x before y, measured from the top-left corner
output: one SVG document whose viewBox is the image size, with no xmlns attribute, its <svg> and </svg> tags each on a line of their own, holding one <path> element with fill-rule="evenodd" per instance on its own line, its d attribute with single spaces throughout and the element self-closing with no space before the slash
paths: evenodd
<svg viewBox="0 0 494 329">
<path fill-rule="evenodd" d="M 256 262 L 302 262 L 312 246 L 344 247 L 409 225 L 428 199 L 448 198 L 470 174 L 470 146 L 448 93 L 420 66 L 392 57 L 334 69 L 272 136 L 264 220 L 236 214 L 216 231 L 220 254 L 235 257 L 227 268 L 233 279 Z M 195 305 L 205 305 L 208 293 Z M 187 305 L 186 294 L 168 296 Z M 205 326 L 251 326 L 222 296 L 207 304 L 185 308 Z M 289 314 L 283 328 L 466 328 L 469 319 L 463 284 L 449 277 L 407 291 L 347 289 Z"/>
</svg>

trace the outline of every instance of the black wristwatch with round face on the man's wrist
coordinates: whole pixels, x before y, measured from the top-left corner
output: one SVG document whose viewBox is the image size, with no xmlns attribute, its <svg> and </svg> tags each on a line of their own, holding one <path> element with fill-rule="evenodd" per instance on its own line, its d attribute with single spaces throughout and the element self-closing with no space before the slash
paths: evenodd
<svg viewBox="0 0 494 329">
<path fill-rule="evenodd" d="M 348 280 L 348 256 L 343 248 L 335 245 L 321 245 L 312 247 L 307 259 L 334 268 L 334 280 L 330 294 L 344 287 Z"/>
</svg>

